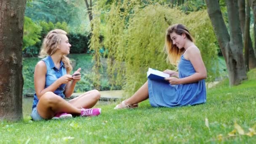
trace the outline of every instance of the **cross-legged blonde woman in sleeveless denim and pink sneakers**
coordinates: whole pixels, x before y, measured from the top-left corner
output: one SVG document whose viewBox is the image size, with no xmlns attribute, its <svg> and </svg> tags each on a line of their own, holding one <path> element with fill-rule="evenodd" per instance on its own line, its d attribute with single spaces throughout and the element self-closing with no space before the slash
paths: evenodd
<svg viewBox="0 0 256 144">
<path fill-rule="evenodd" d="M 80 68 L 70 75 L 72 66 L 68 57 L 71 45 L 67 33 L 61 29 L 50 31 L 40 51 L 40 60 L 35 66 L 35 95 L 31 117 L 33 120 L 80 116 L 96 116 L 101 109 L 93 107 L 100 98 L 97 90 L 88 91 L 70 101 L 64 100 L 74 92 L 81 79 Z"/>
</svg>

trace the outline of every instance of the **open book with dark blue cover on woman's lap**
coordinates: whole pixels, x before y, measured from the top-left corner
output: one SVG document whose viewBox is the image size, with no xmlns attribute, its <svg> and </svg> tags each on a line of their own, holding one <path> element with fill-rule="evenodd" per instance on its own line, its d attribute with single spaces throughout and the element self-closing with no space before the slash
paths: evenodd
<svg viewBox="0 0 256 144">
<path fill-rule="evenodd" d="M 147 78 L 149 78 L 150 80 L 157 80 L 163 83 L 169 83 L 167 80 L 165 80 L 166 77 L 170 77 L 170 75 L 156 69 L 149 68 L 149 70 L 147 71 Z"/>
</svg>

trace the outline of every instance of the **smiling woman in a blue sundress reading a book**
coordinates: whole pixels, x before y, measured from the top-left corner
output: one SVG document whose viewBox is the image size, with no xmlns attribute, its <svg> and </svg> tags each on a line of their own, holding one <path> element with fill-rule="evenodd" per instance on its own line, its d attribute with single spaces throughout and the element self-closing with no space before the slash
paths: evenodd
<svg viewBox="0 0 256 144">
<path fill-rule="evenodd" d="M 201 54 L 193 43 L 187 27 L 174 24 L 167 29 L 165 37 L 167 59 L 178 64 L 179 72 L 166 69 L 169 82 L 148 79 L 130 98 L 122 101 L 115 109 L 135 108 L 149 98 L 152 107 L 180 107 L 203 104 L 206 101 L 205 78 L 207 72 Z"/>
</svg>

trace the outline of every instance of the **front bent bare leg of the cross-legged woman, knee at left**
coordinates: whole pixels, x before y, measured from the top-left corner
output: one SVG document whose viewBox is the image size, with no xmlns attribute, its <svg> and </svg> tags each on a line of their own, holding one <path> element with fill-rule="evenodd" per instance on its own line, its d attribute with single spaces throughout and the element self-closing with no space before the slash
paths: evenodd
<svg viewBox="0 0 256 144">
<path fill-rule="evenodd" d="M 46 92 L 38 101 L 37 112 L 41 117 L 51 119 L 57 112 L 80 115 L 81 109 L 74 107 L 53 92 Z"/>
</svg>

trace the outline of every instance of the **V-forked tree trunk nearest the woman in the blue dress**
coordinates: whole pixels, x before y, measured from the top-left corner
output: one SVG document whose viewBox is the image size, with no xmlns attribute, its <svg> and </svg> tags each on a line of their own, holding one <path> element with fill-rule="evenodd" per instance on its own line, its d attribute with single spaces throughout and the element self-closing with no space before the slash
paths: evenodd
<svg viewBox="0 0 256 144">
<path fill-rule="evenodd" d="M 238 85 L 247 78 L 240 23 L 237 23 L 239 21 L 238 5 L 237 0 L 226 1 L 230 32 L 224 23 L 218 0 L 205 0 L 214 32 L 226 61 L 229 85 Z"/>
</svg>

